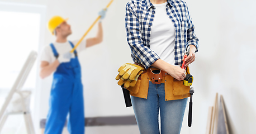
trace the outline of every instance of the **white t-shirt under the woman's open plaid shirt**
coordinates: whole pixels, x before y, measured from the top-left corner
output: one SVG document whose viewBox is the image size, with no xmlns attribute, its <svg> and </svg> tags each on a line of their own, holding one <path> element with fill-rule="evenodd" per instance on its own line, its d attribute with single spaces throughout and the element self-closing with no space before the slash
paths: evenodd
<svg viewBox="0 0 256 134">
<path fill-rule="evenodd" d="M 167 15 L 166 4 L 154 4 L 155 17 L 151 27 L 150 49 L 160 59 L 174 65 L 175 27 Z"/>
</svg>

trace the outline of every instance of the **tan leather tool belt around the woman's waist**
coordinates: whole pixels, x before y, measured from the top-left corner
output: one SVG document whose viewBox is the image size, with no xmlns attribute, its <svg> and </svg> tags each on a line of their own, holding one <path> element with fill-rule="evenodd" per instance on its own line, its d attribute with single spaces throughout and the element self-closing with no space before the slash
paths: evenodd
<svg viewBox="0 0 256 134">
<path fill-rule="evenodd" d="M 135 64 L 142 66 L 138 63 Z M 187 73 L 189 73 L 189 71 L 187 71 Z M 158 68 L 148 68 L 143 71 L 143 73 L 139 75 L 136 84 L 133 87 L 130 86 L 126 89 L 130 91 L 132 96 L 146 99 L 148 97 L 149 82 L 152 82 L 153 84 L 164 83 L 165 100 L 190 97 L 190 87 L 183 85 L 183 80 L 177 80 Z"/>
</svg>

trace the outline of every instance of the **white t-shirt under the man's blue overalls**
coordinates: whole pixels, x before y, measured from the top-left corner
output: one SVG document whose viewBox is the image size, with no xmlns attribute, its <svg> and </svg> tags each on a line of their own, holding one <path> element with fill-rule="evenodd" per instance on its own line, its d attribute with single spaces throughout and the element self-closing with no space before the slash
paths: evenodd
<svg viewBox="0 0 256 134">
<path fill-rule="evenodd" d="M 77 44 L 78 41 L 71 41 L 73 45 Z M 65 43 L 59 43 L 59 42 L 53 42 L 53 45 L 58 52 L 58 54 L 65 54 L 66 52 L 69 52 L 72 50 L 72 46 L 70 45 L 69 41 Z M 86 40 L 83 40 L 80 42 L 80 45 L 77 47 L 77 53 L 79 53 L 82 50 L 86 49 Z M 49 64 L 53 63 L 56 60 L 53 50 L 51 49 L 50 44 L 46 45 L 44 49 L 42 50 L 42 55 L 41 55 L 41 61 L 48 61 Z"/>
</svg>

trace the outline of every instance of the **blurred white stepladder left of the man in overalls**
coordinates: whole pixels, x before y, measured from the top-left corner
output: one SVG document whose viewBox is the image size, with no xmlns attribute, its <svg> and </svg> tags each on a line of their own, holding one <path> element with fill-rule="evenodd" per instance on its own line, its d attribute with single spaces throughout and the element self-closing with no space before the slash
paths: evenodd
<svg viewBox="0 0 256 134">
<path fill-rule="evenodd" d="M 34 134 L 35 129 L 32 122 L 31 112 L 30 112 L 30 90 L 21 90 L 23 84 L 26 82 L 27 76 L 32 69 L 37 58 L 37 52 L 31 51 L 30 55 L 25 61 L 15 83 L 13 84 L 10 92 L 7 95 L 6 100 L 0 111 L 0 133 L 4 127 L 8 116 L 13 114 L 21 114 L 24 117 L 26 131 L 28 134 Z"/>
</svg>

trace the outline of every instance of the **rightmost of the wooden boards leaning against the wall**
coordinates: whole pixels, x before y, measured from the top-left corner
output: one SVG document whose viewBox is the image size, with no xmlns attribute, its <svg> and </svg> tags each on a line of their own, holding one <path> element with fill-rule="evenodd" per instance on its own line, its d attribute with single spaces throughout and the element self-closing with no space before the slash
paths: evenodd
<svg viewBox="0 0 256 134">
<path fill-rule="evenodd" d="M 225 112 L 222 95 L 220 95 L 220 107 L 219 107 L 217 133 L 218 134 L 229 134 L 229 130 L 227 127 L 226 112 Z"/>
</svg>

